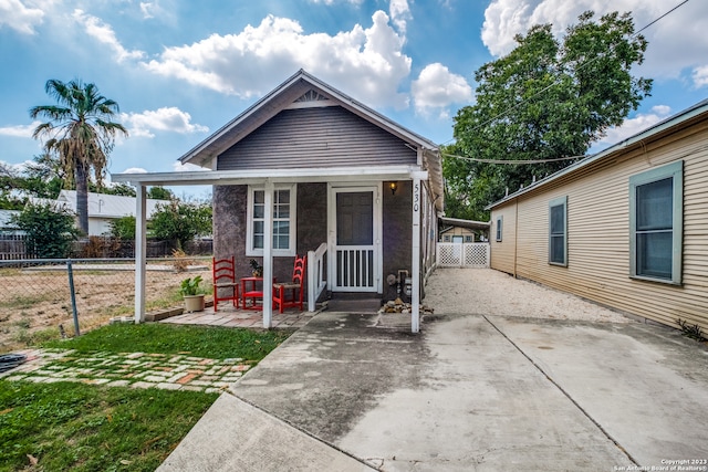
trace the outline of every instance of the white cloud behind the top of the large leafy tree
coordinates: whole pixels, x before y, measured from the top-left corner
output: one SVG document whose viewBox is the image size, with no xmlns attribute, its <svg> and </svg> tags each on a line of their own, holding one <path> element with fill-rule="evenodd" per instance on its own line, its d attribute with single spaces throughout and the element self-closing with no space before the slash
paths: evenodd
<svg viewBox="0 0 708 472">
<path fill-rule="evenodd" d="M 612 11 L 629 11 L 639 30 L 674 6 L 663 0 L 492 0 L 485 11 L 481 38 L 499 56 L 516 46 L 514 34 L 525 33 L 534 24 L 553 23 L 553 31 L 561 35 L 583 11 L 593 10 L 596 19 Z M 699 18 L 708 18 L 708 2 L 688 2 L 643 31 L 649 44 L 645 62 L 636 72 L 676 78 L 686 69 L 705 66 L 708 35 Z"/>
</svg>

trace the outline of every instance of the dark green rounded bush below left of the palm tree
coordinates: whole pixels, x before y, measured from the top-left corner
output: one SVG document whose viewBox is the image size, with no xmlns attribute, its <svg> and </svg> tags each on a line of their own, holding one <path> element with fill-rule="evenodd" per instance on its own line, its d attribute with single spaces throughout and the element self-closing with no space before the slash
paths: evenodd
<svg viewBox="0 0 708 472">
<path fill-rule="evenodd" d="M 77 235 L 73 213 L 52 204 L 28 203 L 10 221 L 27 232 L 28 252 L 40 259 L 69 256 Z"/>
</svg>

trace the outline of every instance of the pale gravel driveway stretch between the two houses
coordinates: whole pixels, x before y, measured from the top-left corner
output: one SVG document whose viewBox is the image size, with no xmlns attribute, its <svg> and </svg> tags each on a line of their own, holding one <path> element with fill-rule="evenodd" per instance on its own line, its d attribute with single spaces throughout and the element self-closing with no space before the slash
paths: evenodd
<svg viewBox="0 0 708 472">
<path fill-rule="evenodd" d="M 620 313 L 491 269 L 437 269 L 425 305 L 435 314 L 479 314 L 628 323 Z"/>
</svg>

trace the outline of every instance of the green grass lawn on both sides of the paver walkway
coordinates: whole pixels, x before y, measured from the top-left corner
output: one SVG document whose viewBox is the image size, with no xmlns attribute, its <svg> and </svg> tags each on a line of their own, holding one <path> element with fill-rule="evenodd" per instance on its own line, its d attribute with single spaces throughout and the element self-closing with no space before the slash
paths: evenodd
<svg viewBox="0 0 708 472">
<path fill-rule="evenodd" d="M 189 353 L 252 364 L 292 332 L 160 324 L 110 325 L 44 347 Z M 76 382 L 0 380 L 0 472 L 152 471 L 177 447 L 217 394 Z"/>
</svg>

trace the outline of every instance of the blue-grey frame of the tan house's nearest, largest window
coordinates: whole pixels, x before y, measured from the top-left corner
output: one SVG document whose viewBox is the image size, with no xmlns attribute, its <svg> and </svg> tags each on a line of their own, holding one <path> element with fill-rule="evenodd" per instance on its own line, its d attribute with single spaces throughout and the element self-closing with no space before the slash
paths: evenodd
<svg viewBox="0 0 708 472">
<path fill-rule="evenodd" d="M 671 276 L 660 277 L 637 273 L 637 187 L 671 178 Z M 673 285 L 681 284 L 684 248 L 684 161 L 636 174 L 629 177 L 629 277 Z"/>
</svg>

